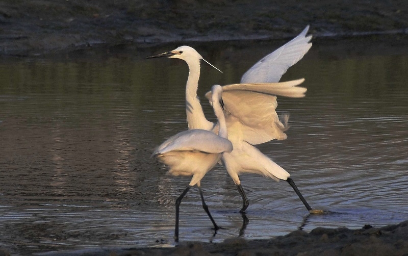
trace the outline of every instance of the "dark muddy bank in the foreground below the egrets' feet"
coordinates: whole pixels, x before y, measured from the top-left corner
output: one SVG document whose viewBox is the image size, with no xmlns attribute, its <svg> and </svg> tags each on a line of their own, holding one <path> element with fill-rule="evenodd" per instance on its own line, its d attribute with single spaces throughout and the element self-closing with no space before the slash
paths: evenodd
<svg viewBox="0 0 408 256">
<path fill-rule="evenodd" d="M 228 239 L 223 243 L 181 242 L 171 248 L 100 248 L 40 255 L 406 255 L 408 221 L 361 229 L 318 227 L 268 240 Z"/>
</svg>

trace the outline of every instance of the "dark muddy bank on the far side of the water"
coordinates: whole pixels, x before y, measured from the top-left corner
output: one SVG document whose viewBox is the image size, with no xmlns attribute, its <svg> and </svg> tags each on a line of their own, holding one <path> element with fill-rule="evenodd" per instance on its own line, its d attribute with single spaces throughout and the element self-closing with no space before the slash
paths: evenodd
<svg viewBox="0 0 408 256">
<path fill-rule="evenodd" d="M 0 54 L 38 55 L 135 43 L 408 33 L 408 2 L 5 0 Z"/>
</svg>

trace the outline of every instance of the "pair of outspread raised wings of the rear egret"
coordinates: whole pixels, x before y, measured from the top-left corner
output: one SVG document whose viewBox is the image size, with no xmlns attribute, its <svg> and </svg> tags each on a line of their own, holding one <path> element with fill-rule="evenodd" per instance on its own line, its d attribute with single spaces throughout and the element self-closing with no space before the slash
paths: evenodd
<svg viewBox="0 0 408 256">
<path fill-rule="evenodd" d="M 272 139 L 283 140 L 287 125 L 276 114 L 276 95 L 300 98 L 307 91 L 297 85 L 304 79 L 277 83 L 289 67 L 312 47 L 306 36 L 309 25 L 295 38 L 265 56 L 241 78 L 241 84 L 223 86 L 222 99 L 228 138 L 243 139 L 254 145 Z M 206 93 L 211 103 L 211 91 Z"/>
</svg>

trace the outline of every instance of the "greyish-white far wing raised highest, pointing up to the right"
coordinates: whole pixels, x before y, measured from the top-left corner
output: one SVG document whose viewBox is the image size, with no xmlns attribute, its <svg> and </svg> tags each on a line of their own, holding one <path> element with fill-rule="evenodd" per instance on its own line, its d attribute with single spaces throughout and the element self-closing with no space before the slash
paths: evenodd
<svg viewBox="0 0 408 256">
<path fill-rule="evenodd" d="M 253 65 L 241 78 L 241 83 L 275 83 L 298 62 L 312 47 L 312 36 L 306 37 L 309 25 L 295 38 L 265 56 Z"/>
</svg>

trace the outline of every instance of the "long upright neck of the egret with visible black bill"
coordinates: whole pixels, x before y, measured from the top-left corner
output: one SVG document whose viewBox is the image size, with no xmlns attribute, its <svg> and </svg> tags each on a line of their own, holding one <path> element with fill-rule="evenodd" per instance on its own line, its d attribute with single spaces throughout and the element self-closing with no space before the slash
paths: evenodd
<svg viewBox="0 0 408 256">
<path fill-rule="evenodd" d="M 188 129 L 211 130 L 213 123 L 206 119 L 200 100 L 197 97 L 198 79 L 200 78 L 199 60 L 187 62 L 190 72 L 186 85 L 186 113 Z"/>
</svg>

